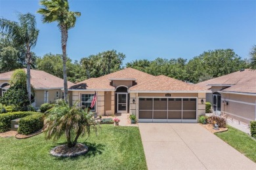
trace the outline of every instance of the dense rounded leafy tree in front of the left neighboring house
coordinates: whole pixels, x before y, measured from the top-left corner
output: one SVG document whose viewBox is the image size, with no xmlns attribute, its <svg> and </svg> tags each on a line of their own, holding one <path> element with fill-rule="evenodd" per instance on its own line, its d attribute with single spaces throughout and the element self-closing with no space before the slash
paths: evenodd
<svg viewBox="0 0 256 170">
<path fill-rule="evenodd" d="M 31 89 L 31 102 L 28 100 L 26 88 L 26 73 L 23 69 L 16 69 L 11 76 L 10 88 L 0 98 L 0 103 L 4 105 L 14 105 L 16 110 L 27 110 L 31 102 L 34 101 L 35 92 Z"/>
</svg>

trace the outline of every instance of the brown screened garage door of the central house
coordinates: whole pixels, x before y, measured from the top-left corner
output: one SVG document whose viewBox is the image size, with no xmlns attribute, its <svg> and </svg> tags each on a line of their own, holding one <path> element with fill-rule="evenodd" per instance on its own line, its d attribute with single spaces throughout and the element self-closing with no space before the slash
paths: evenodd
<svg viewBox="0 0 256 170">
<path fill-rule="evenodd" d="M 140 97 L 139 122 L 197 122 L 196 98 Z"/>
</svg>

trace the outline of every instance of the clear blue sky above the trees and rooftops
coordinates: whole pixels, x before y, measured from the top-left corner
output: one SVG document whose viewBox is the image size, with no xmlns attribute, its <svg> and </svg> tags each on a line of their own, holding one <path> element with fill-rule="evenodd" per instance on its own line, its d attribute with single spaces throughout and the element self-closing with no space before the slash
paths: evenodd
<svg viewBox="0 0 256 170">
<path fill-rule="evenodd" d="M 61 54 L 60 31 L 43 24 L 37 0 L 0 0 L 0 17 L 16 20 L 31 12 L 40 30 L 37 56 Z M 82 1 L 70 10 L 81 12 L 69 31 L 68 56 L 73 60 L 115 49 L 125 61 L 186 58 L 203 51 L 232 48 L 242 58 L 256 44 L 256 1 Z"/>
</svg>

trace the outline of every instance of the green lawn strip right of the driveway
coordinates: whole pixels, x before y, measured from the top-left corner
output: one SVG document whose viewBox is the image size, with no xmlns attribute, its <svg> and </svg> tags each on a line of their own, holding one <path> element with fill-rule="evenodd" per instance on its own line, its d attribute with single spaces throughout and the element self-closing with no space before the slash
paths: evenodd
<svg viewBox="0 0 256 170">
<path fill-rule="evenodd" d="M 256 140 L 249 135 L 231 126 L 228 131 L 215 135 L 256 163 Z"/>
</svg>

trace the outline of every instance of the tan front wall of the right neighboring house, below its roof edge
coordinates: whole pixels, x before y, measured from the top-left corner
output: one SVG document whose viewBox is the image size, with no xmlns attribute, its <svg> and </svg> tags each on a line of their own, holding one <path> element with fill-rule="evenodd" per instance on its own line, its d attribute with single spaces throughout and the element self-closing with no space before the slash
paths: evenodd
<svg viewBox="0 0 256 170">
<path fill-rule="evenodd" d="M 221 97 L 222 114 L 247 124 L 256 120 L 256 96 L 222 93 Z M 227 101 L 228 105 L 223 101 Z"/>
</svg>

